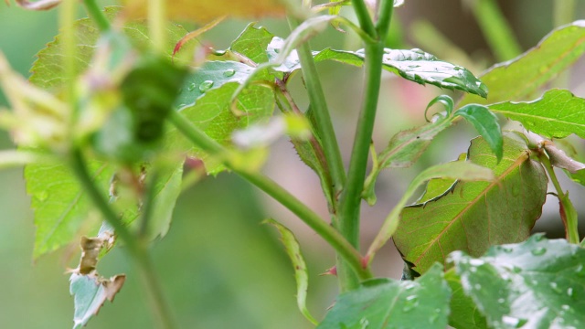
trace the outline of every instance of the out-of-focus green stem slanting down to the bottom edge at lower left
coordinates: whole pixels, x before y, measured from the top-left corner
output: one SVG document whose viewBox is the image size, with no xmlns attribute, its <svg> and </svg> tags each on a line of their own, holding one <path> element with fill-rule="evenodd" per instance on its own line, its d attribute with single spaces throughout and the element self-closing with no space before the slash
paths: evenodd
<svg viewBox="0 0 585 329">
<path fill-rule="evenodd" d="M 107 199 L 93 183 L 93 179 L 87 169 L 87 164 L 83 154 L 79 149 L 71 152 L 70 159 L 71 169 L 80 180 L 83 190 L 90 196 L 93 204 L 101 211 L 103 218 L 112 226 L 116 236 L 120 237 L 125 243 L 126 248 L 136 263 L 140 276 L 144 281 L 144 288 L 149 295 L 151 306 L 159 320 L 161 327 L 165 329 L 175 328 L 170 310 L 165 303 L 163 292 L 158 280 L 154 275 L 154 269 L 151 260 L 146 252 L 146 246 L 139 243 L 136 237 L 126 228 L 120 218 L 113 212 L 112 207 L 108 204 Z"/>
</svg>

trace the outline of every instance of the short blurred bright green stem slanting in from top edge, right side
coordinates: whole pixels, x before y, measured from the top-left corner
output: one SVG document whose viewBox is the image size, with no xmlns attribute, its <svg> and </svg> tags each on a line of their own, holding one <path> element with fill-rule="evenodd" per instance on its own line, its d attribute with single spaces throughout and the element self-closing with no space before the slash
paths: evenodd
<svg viewBox="0 0 585 329">
<path fill-rule="evenodd" d="M 512 28 L 495 0 L 477 0 L 473 5 L 473 16 L 497 61 L 509 60 L 522 53 Z"/>
</svg>

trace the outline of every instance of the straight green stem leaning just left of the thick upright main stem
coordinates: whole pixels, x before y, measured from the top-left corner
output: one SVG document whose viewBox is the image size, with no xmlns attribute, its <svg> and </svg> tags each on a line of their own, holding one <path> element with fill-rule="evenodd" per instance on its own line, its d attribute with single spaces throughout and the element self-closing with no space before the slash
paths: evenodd
<svg viewBox="0 0 585 329">
<path fill-rule="evenodd" d="M 298 27 L 298 22 L 295 18 L 289 17 L 289 25 L 291 29 Z M 319 81 L 317 68 L 314 64 L 313 53 L 308 42 L 304 42 L 296 49 L 301 61 L 301 69 L 303 70 L 304 83 L 309 94 L 309 101 L 311 102 L 311 109 L 314 112 L 317 135 L 321 138 L 323 143 L 324 156 L 329 169 L 331 171 L 332 190 L 339 192 L 346 182 L 346 174 L 344 164 L 335 137 L 335 130 L 333 122 L 329 115 L 327 102 L 323 92 L 323 87 Z M 334 200 L 335 202 L 335 200 Z M 335 207 L 335 205 L 334 205 Z"/>
</svg>

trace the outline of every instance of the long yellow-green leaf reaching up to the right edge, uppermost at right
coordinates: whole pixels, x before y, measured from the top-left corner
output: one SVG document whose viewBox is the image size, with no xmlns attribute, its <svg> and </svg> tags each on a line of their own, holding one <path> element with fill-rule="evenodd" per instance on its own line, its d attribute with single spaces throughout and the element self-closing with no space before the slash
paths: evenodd
<svg viewBox="0 0 585 329">
<path fill-rule="evenodd" d="M 490 90 L 486 100 L 467 95 L 460 105 L 526 100 L 580 58 L 585 52 L 584 39 L 584 20 L 554 29 L 535 48 L 496 64 L 482 75 L 482 81 Z"/>
</svg>

